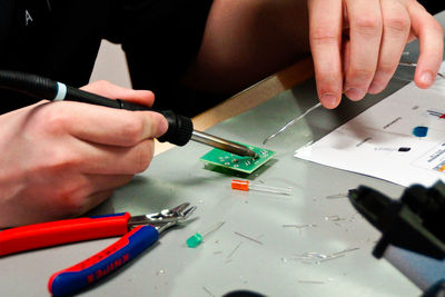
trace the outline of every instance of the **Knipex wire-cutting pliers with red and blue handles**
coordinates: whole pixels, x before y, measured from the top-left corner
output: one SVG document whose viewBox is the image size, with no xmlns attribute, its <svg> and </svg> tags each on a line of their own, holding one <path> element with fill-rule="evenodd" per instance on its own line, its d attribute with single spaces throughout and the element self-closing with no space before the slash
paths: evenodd
<svg viewBox="0 0 445 297">
<path fill-rule="evenodd" d="M 159 212 L 131 217 L 129 212 L 28 225 L 0 231 L 0 257 L 61 244 L 123 235 L 90 258 L 48 281 L 53 296 L 73 294 L 113 273 L 158 240 L 159 234 L 184 222 L 196 209 L 181 204 Z"/>
</svg>

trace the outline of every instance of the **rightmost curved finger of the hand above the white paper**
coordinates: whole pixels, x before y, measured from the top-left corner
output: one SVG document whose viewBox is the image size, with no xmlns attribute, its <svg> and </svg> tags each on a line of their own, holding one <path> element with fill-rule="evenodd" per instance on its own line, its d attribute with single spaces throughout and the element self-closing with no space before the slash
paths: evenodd
<svg viewBox="0 0 445 297">
<path fill-rule="evenodd" d="M 443 29 L 417 1 L 411 1 L 408 11 L 421 47 L 414 81 L 419 88 L 428 88 L 433 85 L 443 60 Z"/>
</svg>

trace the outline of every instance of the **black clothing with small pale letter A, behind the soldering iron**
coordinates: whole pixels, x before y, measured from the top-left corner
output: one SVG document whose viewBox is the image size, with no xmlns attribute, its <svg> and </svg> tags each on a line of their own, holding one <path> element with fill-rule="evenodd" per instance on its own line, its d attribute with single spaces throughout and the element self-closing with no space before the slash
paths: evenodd
<svg viewBox="0 0 445 297">
<path fill-rule="evenodd" d="M 87 85 L 102 39 L 122 44 L 135 88 L 164 98 L 196 56 L 211 0 L 0 0 L 0 69 Z M 137 69 L 137 71 L 135 71 Z M 159 92 L 159 96 L 158 96 Z M 1 91 L 10 109 L 36 102 Z M 180 113 L 180 110 L 175 109 Z M 1 112 L 7 111 L 0 110 Z"/>
</svg>

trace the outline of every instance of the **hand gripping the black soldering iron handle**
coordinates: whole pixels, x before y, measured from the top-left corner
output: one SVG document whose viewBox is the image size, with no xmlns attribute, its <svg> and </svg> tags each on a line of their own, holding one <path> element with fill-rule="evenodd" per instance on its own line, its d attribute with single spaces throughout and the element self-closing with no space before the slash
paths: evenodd
<svg viewBox="0 0 445 297">
<path fill-rule="evenodd" d="M 83 88 L 151 106 L 150 91 L 106 81 Z M 78 216 L 149 166 L 167 120 L 72 101 L 41 101 L 0 116 L 0 228 Z"/>
</svg>

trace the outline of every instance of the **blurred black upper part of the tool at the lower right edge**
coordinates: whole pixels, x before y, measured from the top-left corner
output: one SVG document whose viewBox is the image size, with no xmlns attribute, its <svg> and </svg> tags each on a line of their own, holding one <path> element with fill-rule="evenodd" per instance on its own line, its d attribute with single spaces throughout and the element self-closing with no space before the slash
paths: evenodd
<svg viewBox="0 0 445 297">
<path fill-rule="evenodd" d="M 445 258 L 445 184 L 429 189 L 414 185 L 397 200 L 360 186 L 349 191 L 349 200 L 383 234 L 374 249 L 377 258 L 388 245 Z"/>
</svg>

